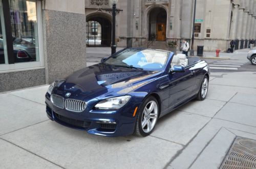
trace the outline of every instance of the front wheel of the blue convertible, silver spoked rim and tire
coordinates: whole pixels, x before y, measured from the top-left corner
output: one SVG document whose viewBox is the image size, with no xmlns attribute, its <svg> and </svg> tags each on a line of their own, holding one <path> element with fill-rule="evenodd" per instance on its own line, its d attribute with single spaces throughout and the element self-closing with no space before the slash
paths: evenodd
<svg viewBox="0 0 256 169">
<path fill-rule="evenodd" d="M 143 137 L 150 135 L 156 126 L 158 115 L 158 102 L 156 98 L 149 96 L 139 109 L 134 133 Z"/>
</svg>

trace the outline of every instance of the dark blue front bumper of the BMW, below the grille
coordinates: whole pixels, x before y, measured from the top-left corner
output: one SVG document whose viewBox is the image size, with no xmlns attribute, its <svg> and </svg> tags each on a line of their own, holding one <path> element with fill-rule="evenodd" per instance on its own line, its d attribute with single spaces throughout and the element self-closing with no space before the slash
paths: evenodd
<svg viewBox="0 0 256 169">
<path fill-rule="evenodd" d="M 63 126 L 84 130 L 90 134 L 113 137 L 130 135 L 134 132 L 136 116 L 133 117 L 133 113 L 139 104 L 127 103 L 116 111 L 84 110 L 77 113 L 54 106 L 49 96 L 47 93 L 47 116 Z"/>
</svg>

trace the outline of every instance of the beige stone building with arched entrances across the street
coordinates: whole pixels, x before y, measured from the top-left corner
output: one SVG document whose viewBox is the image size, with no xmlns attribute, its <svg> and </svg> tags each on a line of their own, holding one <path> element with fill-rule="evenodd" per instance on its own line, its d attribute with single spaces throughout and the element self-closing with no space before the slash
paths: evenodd
<svg viewBox="0 0 256 169">
<path fill-rule="evenodd" d="M 104 10 L 110 8 L 108 0 L 90 0 L 85 5 L 87 21 L 106 20 L 111 27 L 112 17 Z M 182 38 L 191 40 L 194 1 L 119 0 L 117 7 L 123 10 L 116 19 L 118 46 L 140 46 L 152 38 L 178 44 Z M 255 39 L 255 7 L 255 0 L 197 0 L 194 49 L 204 45 L 205 51 L 226 51 L 231 39 L 236 40 L 236 49 L 247 48 L 249 40 Z M 102 32 L 111 35 L 111 29 Z"/>
</svg>

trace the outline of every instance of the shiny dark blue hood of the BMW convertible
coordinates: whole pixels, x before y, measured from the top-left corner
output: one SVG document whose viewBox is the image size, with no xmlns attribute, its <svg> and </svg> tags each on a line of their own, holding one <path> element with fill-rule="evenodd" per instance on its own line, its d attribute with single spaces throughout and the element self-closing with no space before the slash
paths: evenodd
<svg viewBox="0 0 256 169">
<path fill-rule="evenodd" d="M 62 94 L 71 92 L 72 96 L 82 96 L 87 99 L 104 99 L 125 95 L 161 74 L 161 71 L 96 64 L 76 71 L 66 78 L 57 90 L 60 93 L 62 91 Z"/>
</svg>

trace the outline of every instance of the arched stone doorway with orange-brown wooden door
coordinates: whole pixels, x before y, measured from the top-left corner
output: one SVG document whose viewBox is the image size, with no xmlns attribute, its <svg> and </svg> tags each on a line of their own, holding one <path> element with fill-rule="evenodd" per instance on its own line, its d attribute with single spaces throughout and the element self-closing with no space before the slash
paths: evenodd
<svg viewBox="0 0 256 169">
<path fill-rule="evenodd" d="M 148 38 L 155 38 L 157 41 L 166 40 L 167 13 L 165 9 L 157 7 L 150 11 Z"/>
</svg>

